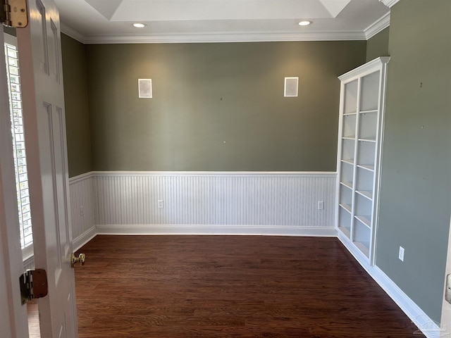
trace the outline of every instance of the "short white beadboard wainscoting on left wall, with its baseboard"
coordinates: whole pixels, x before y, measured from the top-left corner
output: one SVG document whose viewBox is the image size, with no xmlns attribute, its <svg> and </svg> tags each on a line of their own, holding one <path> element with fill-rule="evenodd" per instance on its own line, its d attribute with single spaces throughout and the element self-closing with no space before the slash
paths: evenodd
<svg viewBox="0 0 451 338">
<path fill-rule="evenodd" d="M 86 173 L 69 180 L 70 215 L 72 218 L 73 249 L 76 251 L 95 236 L 94 177 Z M 82 207 L 82 209 L 80 209 Z"/>
</svg>

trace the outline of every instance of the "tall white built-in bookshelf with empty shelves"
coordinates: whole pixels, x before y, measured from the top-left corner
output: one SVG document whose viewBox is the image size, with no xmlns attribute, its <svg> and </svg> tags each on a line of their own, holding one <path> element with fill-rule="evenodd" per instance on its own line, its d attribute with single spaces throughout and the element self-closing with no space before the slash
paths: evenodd
<svg viewBox="0 0 451 338">
<path fill-rule="evenodd" d="M 371 264 L 389 60 L 389 57 L 376 58 L 339 77 L 336 226 L 347 247 Z"/>
</svg>

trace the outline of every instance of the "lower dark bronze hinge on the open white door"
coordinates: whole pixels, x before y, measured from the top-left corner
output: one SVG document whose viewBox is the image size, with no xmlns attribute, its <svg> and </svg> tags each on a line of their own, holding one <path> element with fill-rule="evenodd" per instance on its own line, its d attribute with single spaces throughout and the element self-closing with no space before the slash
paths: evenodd
<svg viewBox="0 0 451 338">
<path fill-rule="evenodd" d="M 47 272 L 44 269 L 27 270 L 20 275 L 20 294 L 22 304 L 35 298 L 47 296 Z"/>
</svg>

